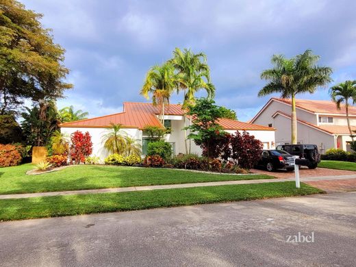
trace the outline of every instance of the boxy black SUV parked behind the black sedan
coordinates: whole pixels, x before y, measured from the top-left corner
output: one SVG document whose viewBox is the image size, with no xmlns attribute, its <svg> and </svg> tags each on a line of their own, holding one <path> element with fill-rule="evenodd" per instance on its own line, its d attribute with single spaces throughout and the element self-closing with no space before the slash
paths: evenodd
<svg viewBox="0 0 356 267">
<path fill-rule="evenodd" d="M 308 162 L 308 168 L 316 168 L 320 163 L 320 154 L 316 144 L 280 144 L 277 149 L 284 150 L 291 155 L 298 155 Z"/>
</svg>

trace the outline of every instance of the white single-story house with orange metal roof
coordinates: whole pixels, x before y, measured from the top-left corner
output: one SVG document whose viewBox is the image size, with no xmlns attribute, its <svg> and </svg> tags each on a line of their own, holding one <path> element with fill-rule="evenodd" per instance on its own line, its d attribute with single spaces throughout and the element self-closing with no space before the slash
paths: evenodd
<svg viewBox="0 0 356 267">
<path fill-rule="evenodd" d="M 142 144 L 142 154 L 147 153 L 147 140 L 149 137 L 143 131 L 147 125 L 163 127 L 158 119 L 159 109 L 151 103 L 131 103 L 125 102 L 123 112 L 101 116 L 97 118 L 88 118 L 86 120 L 77 120 L 70 123 L 62 123 L 60 125 L 62 133 L 71 134 L 77 130 L 90 133 L 92 136 L 93 153 L 105 158 L 109 153 L 103 147 L 103 135 L 107 133 L 111 123 L 123 125 L 123 131 L 127 135 L 136 138 Z M 185 138 L 184 138 L 184 120 L 186 125 L 189 125 L 190 120 L 184 115 L 181 105 L 170 104 L 164 109 L 164 127 L 170 127 L 171 132 L 166 136 L 166 141 L 172 145 L 173 153 L 186 153 Z M 262 141 L 265 148 L 275 146 L 275 129 L 272 127 L 264 127 L 251 123 L 242 123 L 238 120 L 221 118 L 218 123 L 229 133 L 236 131 L 248 131 L 255 138 Z M 187 135 L 189 131 L 187 132 Z M 201 154 L 201 148 L 196 146 L 193 141 L 189 142 L 191 153 Z"/>
</svg>

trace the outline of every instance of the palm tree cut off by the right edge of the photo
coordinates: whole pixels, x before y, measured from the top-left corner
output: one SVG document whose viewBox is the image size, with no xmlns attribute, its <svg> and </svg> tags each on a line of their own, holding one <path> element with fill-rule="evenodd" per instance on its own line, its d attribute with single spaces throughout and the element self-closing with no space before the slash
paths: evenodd
<svg viewBox="0 0 356 267">
<path fill-rule="evenodd" d="M 348 107 L 351 101 L 353 104 L 356 102 L 356 81 L 345 81 L 337 84 L 330 88 L 329 93 L 339 110 L 341 109 L 341 104 L 345 103 L 347 127 L 353 140 L 354 135 L 350 125 L 350 118 L 348 118 Z"/>
</svg>

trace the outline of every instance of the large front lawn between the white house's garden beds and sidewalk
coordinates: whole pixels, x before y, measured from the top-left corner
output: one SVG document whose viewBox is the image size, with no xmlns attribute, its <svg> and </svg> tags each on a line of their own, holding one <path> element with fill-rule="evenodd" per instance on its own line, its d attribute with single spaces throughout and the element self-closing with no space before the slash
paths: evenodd
<svg viewBox="0 0 356 267">
<path fill-rule="evenodd" d="M 25 175 L 32 168 L 31 164 L 0 168 L 0 194 L 275 178 L 268 175 L 219 175 L 164 168 L 94 165 L 71 166 L 42 175 Z"/>
</svg>

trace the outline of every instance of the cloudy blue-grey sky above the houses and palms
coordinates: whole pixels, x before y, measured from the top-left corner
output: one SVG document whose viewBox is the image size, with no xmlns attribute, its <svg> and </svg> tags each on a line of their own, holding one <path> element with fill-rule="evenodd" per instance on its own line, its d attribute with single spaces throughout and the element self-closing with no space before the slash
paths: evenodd
<svg viewBox="0 0 356 267">
<path fill-rule="evenodd" d="M 312 49 L 333 68 L 333 83 L 356 79 L 356 1 L 216 0 L 21 0 L 42 13 L 44 27 L 66 49 L 71 70 L 58 107 L 74 105 L 90 117 L 122 112 L 140 96 L 145 74 L 175 47 L 207 55 L 216 103 L 251 119 L 270 97 L 262 71 L 273 54 Z M 329 86 L 329 87 L 330 87 Z M 329 88 L 328 87 L 328 88 Z M 300 99 L 329 99 L 328 88 Z M 199 96 L 205 96 L 201 92 Z M 181 103 L 173 95 L 170 103 Z"/>
</svg>

